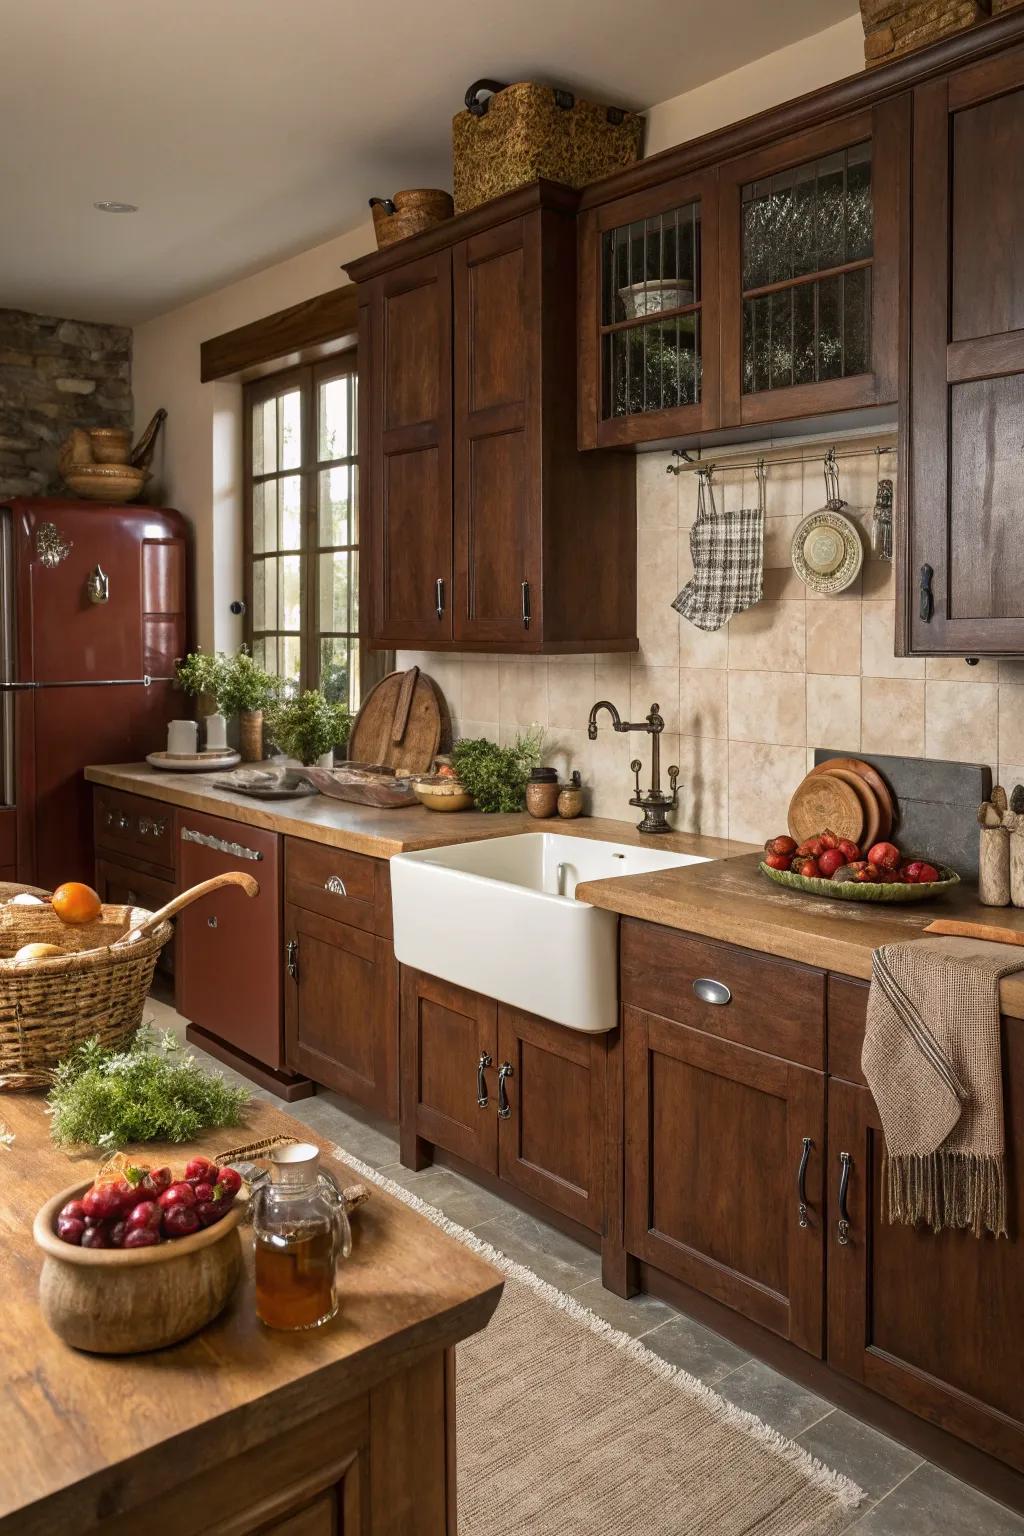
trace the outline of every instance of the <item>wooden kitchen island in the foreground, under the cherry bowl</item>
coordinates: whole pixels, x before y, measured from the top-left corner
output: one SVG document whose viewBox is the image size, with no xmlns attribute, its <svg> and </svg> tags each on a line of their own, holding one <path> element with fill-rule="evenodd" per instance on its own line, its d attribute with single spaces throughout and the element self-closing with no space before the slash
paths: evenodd
<svg viewBox="0 0 1024 1536">
<path fill-rule="evenodd" d="M 444 1536 L 454 1519 L 453 1346 L 485 1327 L 502 1276 L 372 1187 L 353 1217 L 341 1310 L 275 1333 L 255 1315 L 252 1243 L 227 1309 L 149 1355 L 84 1355 L 38 1309 L 32 1218 L 95 1158 L 49 1140 L 38 1097 L 8 1094 L 0 1150 L 0 1533 L 52 1536 Z M 244 1126 L 204 1132 L 207 1154 L 306 1126 L 253 1103 Z M 325 1146 L 321 1143 L 321 1146 Z M 140 1149 L 183 1161 L 181 1147 Z M 325 1158 L 344 1183 L 344 1163 Z"/>
</svg>

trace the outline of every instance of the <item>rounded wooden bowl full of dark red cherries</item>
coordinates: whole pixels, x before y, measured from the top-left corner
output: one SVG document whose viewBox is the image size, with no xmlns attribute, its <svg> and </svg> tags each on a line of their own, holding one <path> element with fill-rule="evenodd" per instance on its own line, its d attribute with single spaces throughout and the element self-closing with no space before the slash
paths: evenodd
<svg viewBox="0 0 1024 1536">
<path fill-rule="evenodd" d="M 198 1332 L 241 1275 L 246 1195 L 233 1167 L 206 1157 L 175 1177 L 118 1154 L 37 1212 L 46 1322 L 97 1355 L 137 1355 Z"/>
</svg>

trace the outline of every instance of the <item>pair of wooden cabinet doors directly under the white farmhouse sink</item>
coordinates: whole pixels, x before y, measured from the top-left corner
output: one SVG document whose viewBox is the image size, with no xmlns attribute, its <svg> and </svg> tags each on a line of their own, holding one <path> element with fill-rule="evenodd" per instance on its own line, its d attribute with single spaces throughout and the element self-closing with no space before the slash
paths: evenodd
<svg viewBox="0 0 1024 1536">
<path fill-rule="evenodd" d="M 402 1161 L 444 1147 L 600 1232 L 608 1037 L 407 966 L 401 989 Z"/>
</svg>

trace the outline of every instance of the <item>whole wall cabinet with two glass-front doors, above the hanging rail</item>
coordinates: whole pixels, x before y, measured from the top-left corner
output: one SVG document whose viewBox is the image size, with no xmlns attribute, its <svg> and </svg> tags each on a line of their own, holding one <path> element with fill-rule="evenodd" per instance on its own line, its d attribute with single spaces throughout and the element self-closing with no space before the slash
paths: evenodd
<svg viewBox="0 0 1024 1536">
<path fill-rule="evenodd" d="M 580 447 L 897 399 L 909 97 L 586 209 Z"/>
</svg>

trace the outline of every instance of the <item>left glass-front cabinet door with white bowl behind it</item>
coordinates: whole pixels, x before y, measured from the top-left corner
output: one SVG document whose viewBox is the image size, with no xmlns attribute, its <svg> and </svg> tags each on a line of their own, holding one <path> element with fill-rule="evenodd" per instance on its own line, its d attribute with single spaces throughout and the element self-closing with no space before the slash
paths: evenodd
<svg viewBox="0 0 1024 1536">
<path fill-rule="evenodd" d="M 580 447 L 705 432 L 718 415 L 714 172 L 580 221 Z"/>
</svg>

